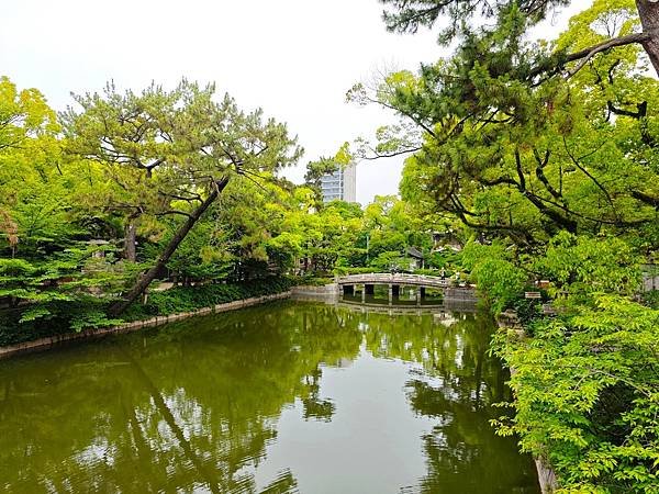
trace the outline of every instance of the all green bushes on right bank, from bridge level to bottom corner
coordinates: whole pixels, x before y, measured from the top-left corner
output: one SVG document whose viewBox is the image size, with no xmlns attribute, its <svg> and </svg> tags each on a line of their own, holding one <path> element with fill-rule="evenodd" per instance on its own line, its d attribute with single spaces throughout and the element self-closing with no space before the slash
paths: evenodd
<svg viewBox="0 0 659 494">
<path fill-rule="evenodd" d="M 630 295 L 639 267 L 617 238 L 560 234 L 543 256 L 513 262 L 500 246 L 468 246 L 472 276 L 496 310 L 517 310 L 526 336 L 501 332 L 495 351 L 515 369 L 514 418 L 495 420 L 557 471 L 561 492 L 656 492 L 659 311 Z M 559 311 L 520 299 L 535 270 Z"/>
</svg>

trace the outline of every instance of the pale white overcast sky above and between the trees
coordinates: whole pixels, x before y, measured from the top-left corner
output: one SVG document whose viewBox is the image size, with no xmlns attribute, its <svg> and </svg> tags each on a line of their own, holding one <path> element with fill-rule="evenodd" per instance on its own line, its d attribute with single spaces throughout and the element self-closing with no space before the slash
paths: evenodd
<svg viewBox="0 0 659 494">
<path fill-rule="evenodd" d="M 34 87 L 52 106 L 69 92 L 99 91 L 113 79 L 139 90 L 181 77 L 216 82 L 245 109 L 260 106 L 288 123 L 305 148 L 286 175 L 301 181 L 306 161 L 391 120 L 376 108 L 345 103 L 346 91 L 388 68 L 415 70 L 446 52 L 435 35 L 387 33 L 378 0 L 5 0 L 0 75 Z M 9 3 L 9 4 L 7 4 Z M 565 27 L 573 5 L 541 30 Z M 398 192 L 401 159 L 362 162 L 357 200 Z"/>
</svg>

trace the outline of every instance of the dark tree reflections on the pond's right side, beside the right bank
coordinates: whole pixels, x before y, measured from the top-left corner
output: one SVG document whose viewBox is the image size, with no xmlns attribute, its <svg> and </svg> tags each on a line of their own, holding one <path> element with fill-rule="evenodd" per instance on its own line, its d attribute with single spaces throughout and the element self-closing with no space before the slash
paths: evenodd
<svg viewBox="0 0 659 494">
<path fill-rule="evenodd" d="M 422 364 L 406 394 L 412 409 L 436 425 L 423 439 L 428 473 L 422 492 L 537 492 L 532 468 L 518 468 L 514 440 L 494 435 L 491 405 L 510 398 L 507 375 L 488 355 L 492 322 L 467 315 L 446 327 L 431 316 L 367 316 L 367 348 L 377 357 Z"/>
</svg>

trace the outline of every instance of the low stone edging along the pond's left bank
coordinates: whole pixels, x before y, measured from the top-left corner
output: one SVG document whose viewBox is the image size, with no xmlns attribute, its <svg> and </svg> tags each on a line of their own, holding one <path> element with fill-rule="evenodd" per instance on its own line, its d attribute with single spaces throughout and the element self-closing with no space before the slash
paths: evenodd
<svg viewBox="0 0 659 494">
<path fill-rule="evenodd" d="M 20 353 L 26 353 L 30 351 L 46 350 L 55 348 L 60 344 L 67 341 L 75 341 L 78 339 L 93 339 L 108 335 L 119 335 L 122 333 L 132 333 L 139 330 L 145 327 L 160 326 L 176 321 L 187 319 L 189 317 L 219 314 L 222 312 L 235 311 L 243 307 L 250 307 L 254 305 L 260 305 L 264 303 L 290 299 L 292 294 L 291 290 L 281 293 L 275 293 L 272 295 L 253 296 L 249 299 L 236 300 L 234 302 L 227 302 L 224 304 L 217 304 L 211 307 L 198 308 L 197 311 L 183 312 L 178 314 L 169 314 L 165 316 L 156 316 L 149 319 L 133 321 L 123 323 L 118 326 L 97 328 L 97 329 L 85 329 L 79 333 L 65 333 L 63 335 L 48 336 L 45 338 L 33 339 L 30 341 L 22 341 L 15 345 L 8 345 L 0 347 L 0 360 L 7 359 Z"/>
</svg>

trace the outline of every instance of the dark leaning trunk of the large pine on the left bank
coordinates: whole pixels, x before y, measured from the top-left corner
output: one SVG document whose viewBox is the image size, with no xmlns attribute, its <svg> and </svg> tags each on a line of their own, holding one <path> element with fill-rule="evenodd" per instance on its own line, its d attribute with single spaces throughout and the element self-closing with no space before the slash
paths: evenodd
<svg viewBox="0 0 659 494">
<path fill-rule="evenodd" d="M 228 183 L 228 177 L 224 177 L 214 183 L 214 188 L 206 198 L 205 201 L 201 203 L 199 207 L 197 207 L 190 216 L 186 220 L 186 222 L 179 227 L 177 233 L 174 235 L 169 244 L 158 257 L 155 266 L 153 266 L 148 271 L 137 278 L 135 285 L 131 289 L 131 291 L 120 301 L 112 304 L 110 307 L 110 315 L 118 316 L 122 312 L 124 312 L 129 305 L 131 305 L 150 284 L 152 281 L 156 278 L 158 272 L 167 265 L 176 249 L 180 245 L 181 242 L 186 238 L 188 233 L 192 229 L 197 221 L 201 217 L 201 215 L 210 207 L 210 205 L 215 201 L 217 195 L 224 190 L 226 184 Z"/>
</svg>

